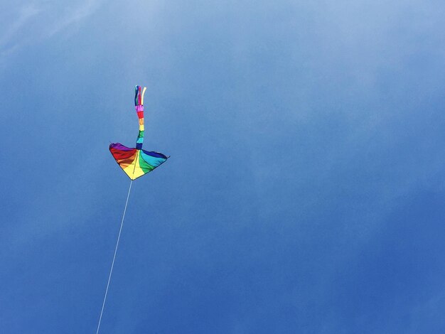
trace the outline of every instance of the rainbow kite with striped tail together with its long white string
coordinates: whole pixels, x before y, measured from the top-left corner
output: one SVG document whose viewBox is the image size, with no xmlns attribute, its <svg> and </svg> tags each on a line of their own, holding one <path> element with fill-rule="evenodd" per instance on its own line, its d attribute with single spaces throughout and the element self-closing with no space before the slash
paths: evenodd
<svg viewBox="0 0 445 334">
<path fill-rule="evenodd" d="M 117 235 L 116 247 L 114 247 L 114 255 L 111 269 L 109 269 L 107 289 L 105 289 L 104 301 L 102 302 L 102 309 L 100 310 L 99 323 L 97 323 L 96 334 L 99 333 L 100 322 L 102 320 L 102 314 L 104 313 L 105 301 L 107 300 L 107 293 L 109 288 L 109 281 L 114 268 L 114 260 L 116 259 L 117 247 L 119 246 L 119 240 L 121 237 L 122 226 L 124 225 L 125 212 L 127 212 L 128 199 L 130 197 L 130 191 L 132 190 L 132 183 L 136 178 L 144 176 L 154 170 L 154 168 L 160 166 L 166 162 L 167 156 L 162 153 L 154 151 L 145 151 L 142 149 L 144 144 L 144 94 L 146 87 L 141 89 L 141 86 L 136 86 L 134 94 L 134 107 L 139 119 L 139 134 L 136 139 L 136 147 L 129 148 L 119 143 L 109 144 L 109 151 L 112 153 L 114 160 L 119 164 L 122 170 L 130 178 L 130 186 L 128 189 L 127 200 L 125 202 L 124 214 L 122 215 L 121 226 L 119 228 L 119 235 Z"/>
</svg>

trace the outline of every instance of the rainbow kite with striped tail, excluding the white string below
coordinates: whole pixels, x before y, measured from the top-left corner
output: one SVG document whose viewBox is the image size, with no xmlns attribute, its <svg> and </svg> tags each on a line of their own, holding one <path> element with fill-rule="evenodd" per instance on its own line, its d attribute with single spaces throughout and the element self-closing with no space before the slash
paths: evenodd
<svg viewBox="0 0 445 334">
<path fill-rule="evenodd" d="M 119 143 L 109 144 L 109 151 L 112 153 L 114 160 L 132 180 L 153 171 L 154 168 L 166 162 L 168 158 L 162 153 L 142 149 L 142 144 L 144 143 L 145 90 L 146 87 L 141 91 L 141 86 L 136 86 L 136 94 L 134 95 L 134 106 L 139 118 L 139 134 L 136 140 L 136 148 L 132 149 Z"/>
</svg>

